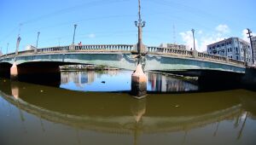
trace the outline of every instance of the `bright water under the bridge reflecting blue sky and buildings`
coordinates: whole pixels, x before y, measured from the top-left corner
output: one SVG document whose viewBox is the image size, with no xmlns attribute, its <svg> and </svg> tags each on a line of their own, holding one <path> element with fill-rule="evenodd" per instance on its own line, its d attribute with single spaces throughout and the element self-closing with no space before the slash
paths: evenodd
<svg viewBox="0 0 256 145">
<path fill-rule="evenodd" d="M 103 72 L 62 72 L 61 88 L 85 91 L 129 91 L 131 90 L 131 71 Z M 148 91 L 183 92 L 198 90 L 195 80 L 183 80 L 160 73 L 146 73 Z"/>
</svg>

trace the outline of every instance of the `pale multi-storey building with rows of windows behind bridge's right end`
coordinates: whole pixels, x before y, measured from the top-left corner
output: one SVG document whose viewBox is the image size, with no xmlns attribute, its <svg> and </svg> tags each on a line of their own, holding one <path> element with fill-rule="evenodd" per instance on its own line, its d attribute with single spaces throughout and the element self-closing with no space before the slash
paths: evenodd
<svg viewBox="0 0 256 145">
<path fill-rule="evenodd" d="M 246 53 L 244 51 L 246 50 Z M 227 38 L 214 44 L 207 45 L 207 53 L 223 55 L 237 61 L 247 61 L 252 64 L 252 49 L 250 44 L 241 38 Z"/>
</svg>

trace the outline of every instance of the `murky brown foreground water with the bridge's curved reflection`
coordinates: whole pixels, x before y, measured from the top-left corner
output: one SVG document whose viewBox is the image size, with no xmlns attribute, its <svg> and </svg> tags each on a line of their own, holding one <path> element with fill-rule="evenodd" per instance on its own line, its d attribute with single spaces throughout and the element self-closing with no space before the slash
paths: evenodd
<svg viewBox="0 0 256 145">
<path fill-rule="evenodd" d="M 0 96 L 0 136 L 8 144 L 255 142 L 256 98 L 248 90 L 136 100 L 1 79 Z"/>
</svg>

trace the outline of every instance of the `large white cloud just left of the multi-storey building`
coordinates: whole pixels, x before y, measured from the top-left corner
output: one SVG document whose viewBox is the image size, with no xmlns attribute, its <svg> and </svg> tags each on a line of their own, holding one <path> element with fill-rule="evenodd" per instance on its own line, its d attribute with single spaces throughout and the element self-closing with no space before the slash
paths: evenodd
<svg viewBox="0 0 256 145">
<path fill-rule="evenodd" d="M 224 36 L 227 35 L 228 33 L 230 33 L 230 27 L 227 25 L 218 25 L 216 26 L 214 32 L 207 33 L 207 34 L 199 30 L 197 33 L 195 33 L 195 49 L 200 52 L 206 51 L 208 44 L 213 44 L 215 42 L 223 40 L 225 38 Z M 188 45 L 187 49 L 193 48 L 194 44 L 193 44 L 192 32 L 190 31 L 180 32 L 179 34 L 181 35 L 183 42 L 186 45 Z M 197 40 L 200 40 L 200 41 L 197 41 Z"/>
</svg>

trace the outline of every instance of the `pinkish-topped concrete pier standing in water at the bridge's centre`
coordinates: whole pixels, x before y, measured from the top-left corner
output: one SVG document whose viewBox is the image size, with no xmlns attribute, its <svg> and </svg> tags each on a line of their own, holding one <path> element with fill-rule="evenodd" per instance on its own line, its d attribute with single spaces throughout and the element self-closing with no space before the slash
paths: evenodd
<svg viewBox="0 0 256 145">
<path fill-rule="evenodd" d="M 131 95 L 141 99 L 147 94 L 147 76 L 143 72 L 141 64 L 137 65 L 134 73 L 131 75 Z"/>
</svg>

